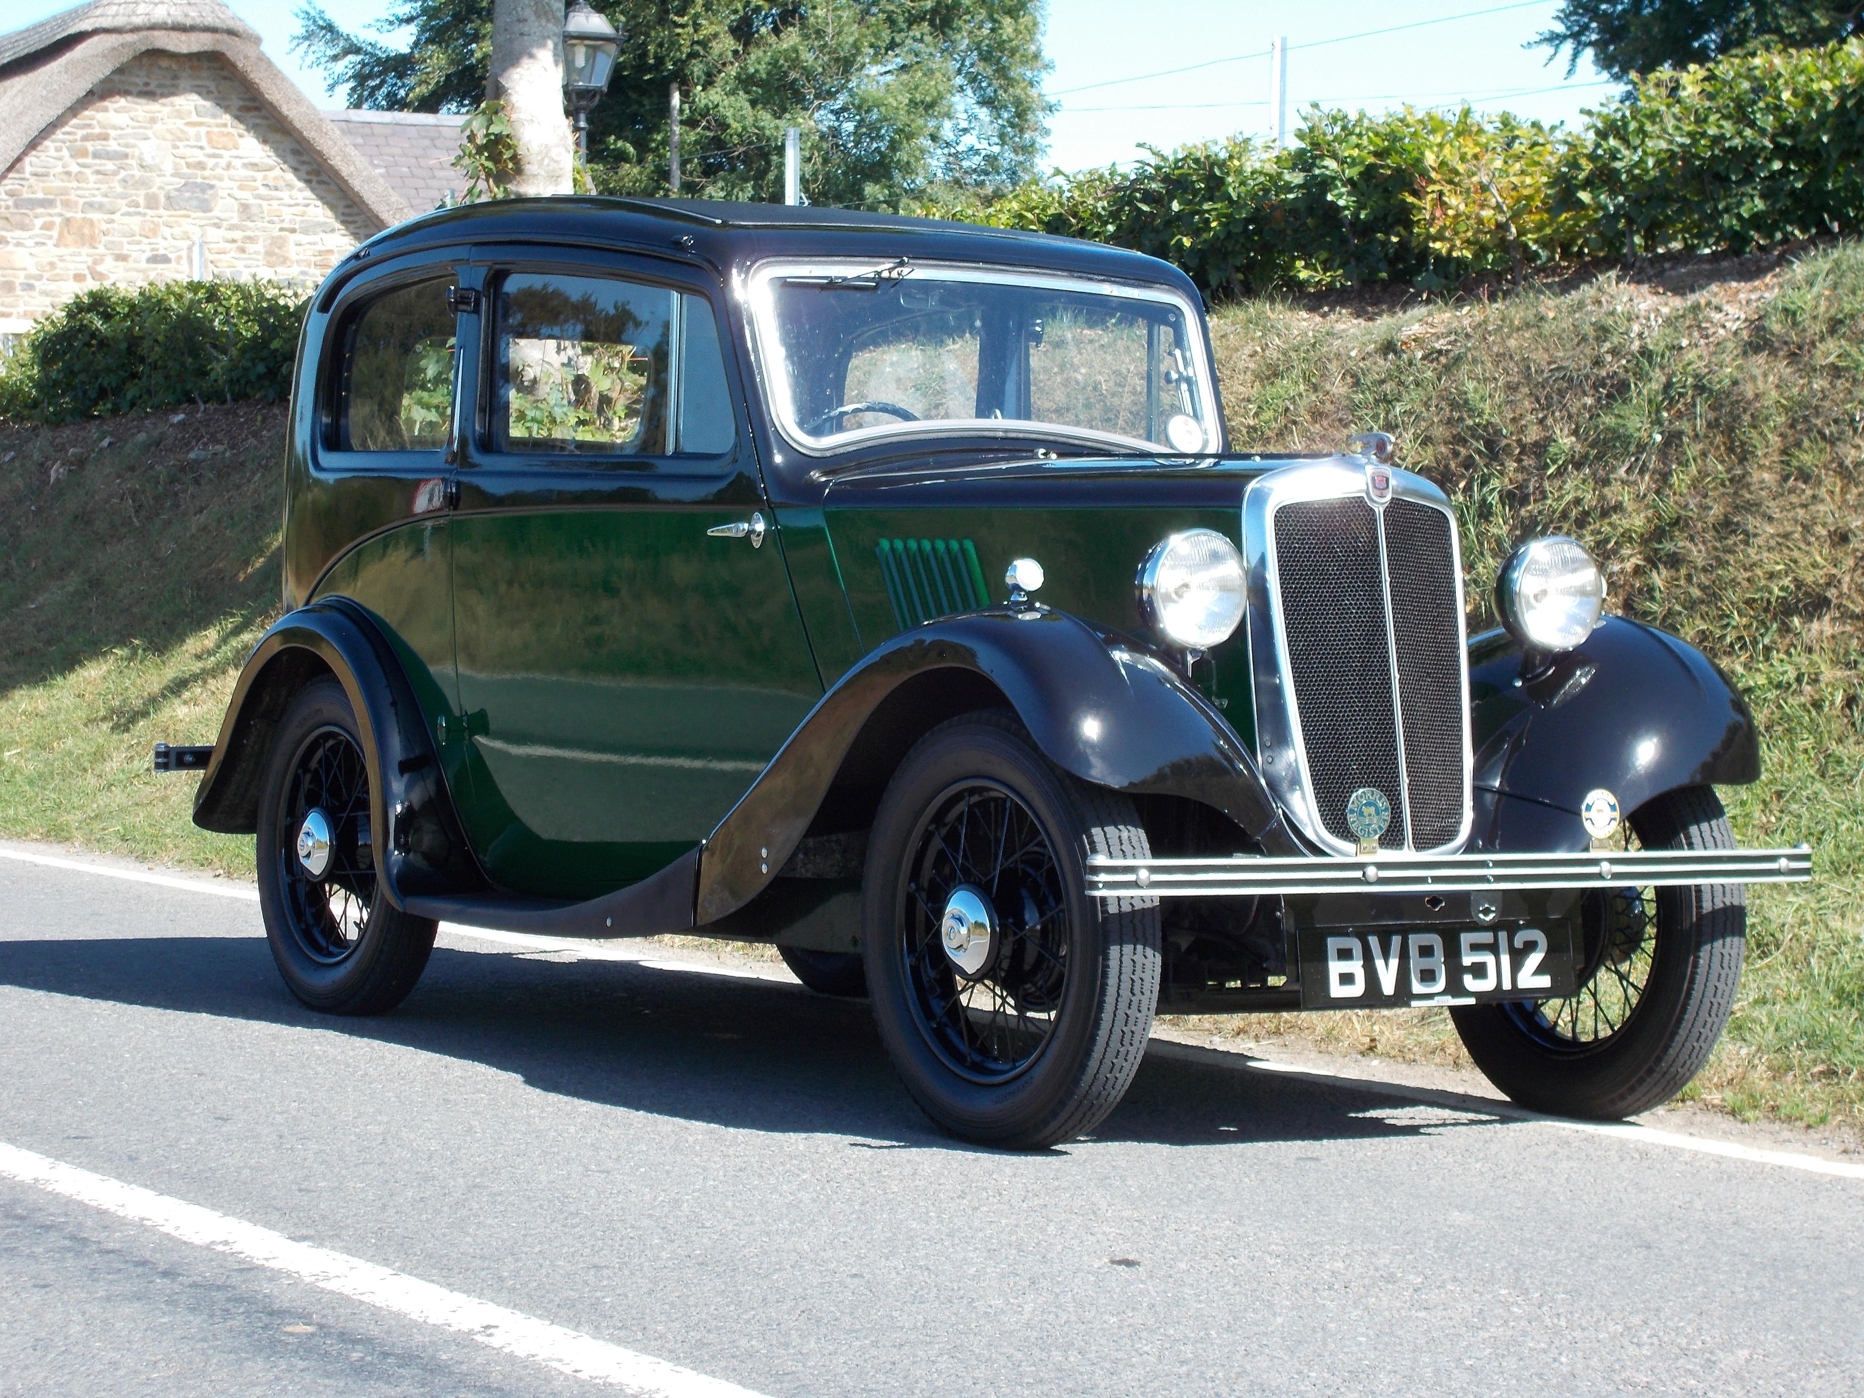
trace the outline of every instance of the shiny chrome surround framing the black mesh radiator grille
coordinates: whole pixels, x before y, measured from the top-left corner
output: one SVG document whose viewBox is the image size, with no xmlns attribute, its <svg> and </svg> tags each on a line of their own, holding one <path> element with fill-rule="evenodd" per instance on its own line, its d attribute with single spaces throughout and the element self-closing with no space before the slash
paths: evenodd
<svg viewBox="0 0 1864 1398">
<path fill-rule="evenodd" d="M 1372 470 L 1389 473 L 1385 498 L 1374 498 L 1368 481 Z M 1301 733 L 1301 710 L 1294 690 L 1294 664 L 1288 652 L 1288 632 L 1282 617 L 1282 589 L 1275 548 L 1275 514 L 1295 503 L 1327 500 L 1366 500 L 1377 513 L 1379 570 L 1385 595 L 1385 637 L 1392 658 L 1392 725 L 1398 751 L 1400 790 L 1385 792 L 1392 803 L 1392 824 L 1404 831 L 1405 852 L 1411 850 L 1411 800 L 1404 759 L 1404 693 L 1396 675 L 1396 637 L 1392 624 L 1391 570 L 1385 554 L 1385 505 L 1407 500 L 1439 511 L 1448 520 L 1450 552 L 1456 587 L 1456 654 L 1461 692 L 1461 822 L 1456 835 L 1430 846 L 1426 852 L 1460 850 L 1469 839 L 1474 820 L 1473 768 L 1469 740 L 1469 665 L 1467 623 L 1463 619 L 1463 554 L 1456 531 L 1456 516 L 1448 498 L 1420 475 L 1394 466 L 1377 466 L 1368 457 L 1335 457 L 1331 460 L 1299 462 L 1260 475 L 1243 494 L 1243 567 L 1249 578 L 1249 664 L 1254 686 L 1256 759 L 1264 781 L 1290 824 L 1327 854 L 1355 854 L 1351 841 L 1327 829 L 1314 796 L 1314 777 L 1309 766 L 1307 744 Z M 1392 857 L 1396 850 L 1385 850 Z"/>
</svg>

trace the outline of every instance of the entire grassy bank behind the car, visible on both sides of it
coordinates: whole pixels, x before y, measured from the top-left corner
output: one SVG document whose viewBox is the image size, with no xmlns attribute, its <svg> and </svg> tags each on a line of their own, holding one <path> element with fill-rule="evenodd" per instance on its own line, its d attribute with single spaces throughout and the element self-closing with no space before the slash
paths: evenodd
<svg viewBox="0 0 1864 1398">
<path fill-rule="evenodd" d="M 1458 500 L 1473 593 L 1514 539 L 1573 533 L 1616 610 L 1735 675 L 1765 777 L 1724 800 L 1743 843 L 1810 841 L 1819 880 L 1752 891 L 1741 1007 L 1693 1092 L 1864 1122 L 1864 250 L 1493 304 L 1253 300 L 1213 334 L 1245 449 L 1394 431 Z M 281 425 L 231 406 L 0 427 L 0 833 L 250 870 L 147 753 L 212 740 L 276 608 Z M 1422 1012 L 1199 1027 L 1460 1057 Z"/>
</svg>

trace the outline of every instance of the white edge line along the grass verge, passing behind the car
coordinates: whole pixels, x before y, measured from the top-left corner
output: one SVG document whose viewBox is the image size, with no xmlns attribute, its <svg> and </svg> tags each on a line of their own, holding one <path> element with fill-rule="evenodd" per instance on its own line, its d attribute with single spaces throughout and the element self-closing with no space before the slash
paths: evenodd
<svg viewBox="0 0 1864 1398">
<path fill-rule="evenodd" d="M 48 854 L 26 852 L 26 850 L 6 850 L 0 848 L 0 859 L 21 859 L 24 863 L 47 865 L 50 869 L 71 869 L 80 874 L 104 874 L 106 878 L 125 878 L 136 884 L 158 884 L 162 887 L 185 889 L 188 893 L 212 893 L 222 898 L 246 898 L 257 902 L 259 893 L 255 889 L 233 884 L 227 887 L 218 887 L 199 878 L 170 878 L 164 874 L 149 874 L 140 869 L 114 869 L 110 865 L 84 863 L 80 859 L 60 859 Z M 777 971 L 757 971 L 751 967 L 736 969 L 723 966 L 705 966 L 701 962 L 675 962 L 643 953 L 636 953 L 621 947 L 604 947 L 589 941 L 576 941 L 572 938 L 539 938 L 528 932 L 494 932 L 483 926 L 460 926 L 457 923 L 442 923 L 440 928 L 459 938 L 477 938 L 481 941 L 498 941 L 509 947 L 526 947 L 529 951 L 559 951 L 578 956 L 582 960 L 595 962 L 636 962 L 656 971 L 693 971 L 699 975 L 731 975 L 755 980 L 777 980 L 783 984 L 794 984 L 794 977 Z M 1387 1096 L 1402 1096 L 1411 1102 L 1433 1102 L 1439 1096 L 1448 1098 L 1454 1094 L 1433 1092 L 1430 1089 L 1404 1087 L 1402 1083 L 1385 1083 L 1377 1077 L 1344 1077 L 1340 1074 L 1320 1074 L 1312 1068 L 1303 1068 L 1292 1062 L 1275 1062 L 1271 1059 L 1251 1059 L 1243 1053 L 1232 1049 L 1212 1049 L 1200 1044 L 1174 1044 L 1172 1040 L 1154 1038 L 1148 1051 L 1161 1053 L 1161 1057 L 1172 1057 L 1174 1049 L 1184 1049 L 1184 1057 L 1195 1057 L 1199 1062 L 1210 1062 L 1212 1057 L 1221 1057 L 1225 1062 L 1213 1066 L 1241 1066 L 1254 1072 L 1271 1074 L 1292 1074 L 1295 1077 L 1309 1077 L 1316 1083 L 1359 1083 L 1366 1090 L 1383 1092 Z M 1758 1146 L 1743 1146 L 1734 1141 L 1715 1141 L 1702 1135 L 1681 1135 L 1679 1131 L 1663 1131 L 1655 1126 L 1640 1126 L 1637 1122 L 1577 1122 L 1566 1117 L 1542 1117 L 1532 1111 L 1523 1111 L 1508 1102 L 1487 1102 L 1484 1100 L 1484 1111 L 1491 1111 L 1497 1117 L 1508 1117 L 1510 1120 L 1532 1122 L 1536 1126 L 1551 1126 L 1562 1131 L 1586 1131 L 1590 1135 L 1610 1135 L 1620 1141 L 1637 1141 L 1646 1146 L 1668 1146 L 1670 1150 L 1693 1150 L 1702 1156 L 1722 1156 L 1724 1159 L 1745 1159 L 1756 1165 L 1778 1165 L 1789 1171 L 1806 1171 L 1810 1174 L 1832 1174 L 1842 1180 L 1864 1180 L 1864 1165 L 1853 1165 L 1842 1159 L 1821 1159 L 1819 1156 L 1802 1156 L 1793 1150 L 1760 1150 Z"/>
</svg>

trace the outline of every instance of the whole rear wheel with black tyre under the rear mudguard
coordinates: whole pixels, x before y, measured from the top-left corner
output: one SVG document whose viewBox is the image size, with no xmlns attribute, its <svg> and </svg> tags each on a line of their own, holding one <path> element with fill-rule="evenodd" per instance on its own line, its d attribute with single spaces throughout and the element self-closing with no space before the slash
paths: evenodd
<svg viewBox="0 0 1864 1398">
<path fill-rule="evenodd" d="M 369 820 L 356 716 L 341 684 L 319 680 L 293 699 L 272 740 L 257 859 L 272 960 L 313 1010 L 395 1008 L 434 949 L 436 923 L 408 917 L 382 891 Z"/>
</svg>

